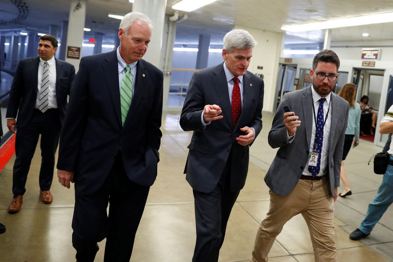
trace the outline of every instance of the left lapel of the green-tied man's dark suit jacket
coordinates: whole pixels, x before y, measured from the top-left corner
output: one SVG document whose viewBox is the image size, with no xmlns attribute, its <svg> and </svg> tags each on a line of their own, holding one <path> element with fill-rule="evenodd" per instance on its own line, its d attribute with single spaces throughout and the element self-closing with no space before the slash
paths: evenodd
<svg viewBox="0 0 393 262">
<path fill-rule="evenodd" d="M 107 87 L 109 89 L 109 93 L 111 94 L 112 103 L 114 106 L 114 111 L 116 113 L 117 120 L 119 125 L 121 125 L 121 116 L 120 116 L 120 90 L 119 90 L 119 78 L 118 78 L 118 70 L 117 70 L 117 55 L 116 50 L 108 53 L 103 62 L 103 69 L 105 78 L 107 80 Z"/>
</svg>

